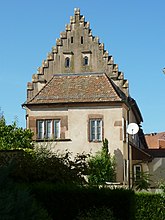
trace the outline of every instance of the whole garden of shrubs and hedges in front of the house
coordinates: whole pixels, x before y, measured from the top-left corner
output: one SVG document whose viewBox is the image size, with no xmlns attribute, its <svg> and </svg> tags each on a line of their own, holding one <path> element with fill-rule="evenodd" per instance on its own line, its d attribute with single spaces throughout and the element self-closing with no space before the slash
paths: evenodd
<svg viewBox="0 0 165 220">
<path fill-rule="evenodd" d="M 108 141 L 95 155 L 52 154 L 33 133 L 0 119 L 0 219 L 164 220 L 165 193 L 109 188 Z"/>
</svg>

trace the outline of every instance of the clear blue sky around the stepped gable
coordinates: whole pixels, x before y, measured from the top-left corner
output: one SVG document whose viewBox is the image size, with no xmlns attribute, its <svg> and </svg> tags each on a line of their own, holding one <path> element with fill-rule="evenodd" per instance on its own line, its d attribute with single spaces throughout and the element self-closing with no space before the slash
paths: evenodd
<svg viewBox="0 0 165 220">
<path fill-rule="evenodd" d="M 145 133 L 165 131 L 164 0 L 1 0 L 0 107 L 25 127 L 26 84 L 80 8 L 129 80 Z"/>
</svg>

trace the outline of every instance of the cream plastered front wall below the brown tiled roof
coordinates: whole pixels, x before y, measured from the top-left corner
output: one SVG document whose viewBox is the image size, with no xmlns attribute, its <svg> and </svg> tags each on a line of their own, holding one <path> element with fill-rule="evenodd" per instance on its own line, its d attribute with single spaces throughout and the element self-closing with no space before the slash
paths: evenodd
<svg viewBox="0 0 165 220">
<path fill-rule="evenodd" d="M 117 180 L 123 182 L 123 140 L 121 137 L 122 125 L 115 126 L 115 122 L 122 122 L 121 107 L 69 107 L 63 109 L 33 109 L 27 112 L 29 116 L 68 116 L 68 131 L 65 137 L 71 139 L 66 142 L 56 142 L 55 150 L 68 149 L 77 153 L 96 153 L 102 147 L 102 142 L 94 143 L 88 140 L 88 117 L 100 114 L 103 116 L 104 138 L 108 139 L 109 150 L 117 160 Z"/>
</svg>

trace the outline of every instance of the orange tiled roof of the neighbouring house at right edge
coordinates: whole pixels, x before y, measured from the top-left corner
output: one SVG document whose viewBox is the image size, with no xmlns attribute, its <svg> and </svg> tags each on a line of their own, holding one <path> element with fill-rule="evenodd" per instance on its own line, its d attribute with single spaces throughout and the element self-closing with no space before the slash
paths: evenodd
<svg viewBox="0 0 165 220">
<path fill-rule="evenodd" d="M 165 149 L 165 132 L 145 135 L 149 149 Z"/>
</svg>

